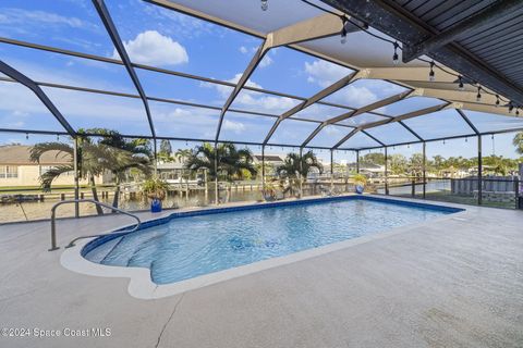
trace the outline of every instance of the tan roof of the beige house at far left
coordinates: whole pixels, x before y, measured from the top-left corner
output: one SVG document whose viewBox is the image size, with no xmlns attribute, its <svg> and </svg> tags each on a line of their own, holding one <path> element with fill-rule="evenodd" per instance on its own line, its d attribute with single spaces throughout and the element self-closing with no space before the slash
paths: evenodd
<svg viewBox="0 0 523 348">
<path fill-rule="evenodd" d="M 7 145 L 0 146 L 0 165 L 38 165 L 31 161 L 31 146 Z M 71 163 L 71 156 L 60 151 L 48 151 L 40 157 L 40 165 L 57 165 Z"/>
</svg>

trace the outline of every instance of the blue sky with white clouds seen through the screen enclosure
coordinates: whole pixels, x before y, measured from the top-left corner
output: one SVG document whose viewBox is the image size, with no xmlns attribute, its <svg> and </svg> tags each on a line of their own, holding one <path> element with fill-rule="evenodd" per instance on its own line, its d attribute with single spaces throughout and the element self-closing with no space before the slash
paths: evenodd
<svg viewBox="0 0 523 348">
<path fill-rule="evenodd" d="M 141 0 L 106 0 L 125 49 L 135 63 L 236 83 L 262 40 L 226 27 L 207 23 Z M 273 7 L 272 7 L 273 8 Z M 349 34 L 350 35 L 350 34 Z M 83 53 L 119 59 L 89 0 L 2 0 L 0 2 L 0 36 L 34 44 L 60 47 Z M 340 44 L 341 45 L 341 44 Z M 71 58 L 0 44 L 0 59 L 28 77 L 47 83 L 68 84 L 127 94 L 136 90 L 121 65 Z M 221 108 L 232 87 L 195 79 L 165 75 L 136 69 L 149 97 L 175 99 Z M 307 98 L 352 71 L 328 61 L 289 48 L 270 50 L 247 85 Z M 136 98 L 120 98 L 44 87 L 45 92 L 74 128 L 106 127 L 129 135 L 150 135 L 144 105 Z M 325 101 L 358 108 L 404 91 L 403 87 L 384 82 L 360 79 L 328 96 Z M 252 115 L 242 111 L 280 115 L 300 103 L 284 98 L 243 89 L 226 113 L 220 140 L 263 141 L 275 117 Z M 424 109 L 441 101 L 412 97 L 376 112 L 391 116 Z M 149 101 L 155 130 L 159 136 L 214 139 L 219 110 Z M 325 121 L 348 110 L 315 104 L 285 120 L 269 142 L 300 145 L 317 127 L 317 123 L 294 119 Z M 479 130 L 523 127 L 514 117 L 496 117 L 465 111 Z M 385 120 L 375 114 L 362 114 L 343 125 L 325 127 L 311 146 L 331 147 L 351 132 L 349 126 Z M 453 110 L 405 121 L 424 138 L 470 134 L 472 130 Z M 13 129 L 63 130 L 41 102 L 25 87 L 0 82 L 0 127 Z M 399 124 L 369 129 L 368 133 L 386 145 L 415 141 L 416 138 Z M 513 135 L 497 135 L 495 152 L 515 157 Z M 0 135 L 0 142 L 25 135 Z M 35 141 L 37 137 L 31 137 Z M 461 139 L 459 141 L 463 141 Z M 471 146 L 451 147 L 431 142 L 430 148 L 445 157 L 463 152 L 475 156 Z M 486 142 L 486 141 L 485 141 Z M 366 147 L 378 144 L 360 133 L 342 147 Z M 414 147 L 412 147 L 414 148 Z M 406 148 L 411 151 L 411 148 Z M 328 154 L 328 152 L 326 152 Z M 326 154 L 326 156 L 327 156 Z"/>
</svg>

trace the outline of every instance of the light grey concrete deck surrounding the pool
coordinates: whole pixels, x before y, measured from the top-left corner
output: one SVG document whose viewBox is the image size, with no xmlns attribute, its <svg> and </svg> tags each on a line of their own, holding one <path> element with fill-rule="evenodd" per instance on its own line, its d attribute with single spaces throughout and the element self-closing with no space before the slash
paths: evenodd
<svg viewBox="0 0 523 348">
<path fill-rule="evenodd" d="M 523 211 L 441 204 L 466 211 L 153 300 L 64 269 L 48 222 L 0 225 L 1 327 L 111 330 L 0 347 L 523 347 Z M 129 221 L 60 221 L 59 245 Z"/>
</svg>

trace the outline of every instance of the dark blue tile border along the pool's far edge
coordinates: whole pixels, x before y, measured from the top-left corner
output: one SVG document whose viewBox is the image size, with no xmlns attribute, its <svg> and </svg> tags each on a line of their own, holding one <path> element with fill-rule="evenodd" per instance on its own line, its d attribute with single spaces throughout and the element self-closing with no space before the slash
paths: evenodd
<svg viewBox="0 0 523 348">
<path fill-rule="evenodd" d="M 377 201 L 377 202 L 384 202 L 384 203 L 397 204 L 397 206 L 403 206 L 403 207 L 423 208 L 423 209 L 442 211 L 447 213 L 457 213 L 465 210 L 461 208 L 452 208 L 447 206 L 437 206 L 437 204 L 430 204 L 430 203 L 397 200 L 397 199 L 390 199 L 390 198 L 380 198 L 380 197 L 366 196 L 366 195 L 337 196 L 337 197 L 323 197 L 323 198 L 305 198 L 305 199 L 297 199 L 297 200 L 290 200 L 290 201 L 277 201 L 277 202 L 268 202 L 268 203 L 262 203 L 262 204 L 256 203 L 256 204 L 246 204 L 246 206 L 238 206 L 238 207 L 223 207 L 223 208 L 202 209 L 202 210 L 195 210 L 195 211 L 173 212 L 163 217 L 143 222 L 142 226 L 137 231 L 162 225 L 170 222 L 171 220 L 181 219 L 181 217 L 220 214 L 220 213 L 227 213 L 227 212 L 236 212 L 236 211 L 254 210 L 254 209 L 269 209 L 269 208 L 278 208 L 278 207 L 289 207 L 289 206 L 325 203 L 325 202 L 342 201 L 342 200 L 369 200 L 369 201 Z M 127 234 L 126 229 L 133 226 L 135 225 L 127 225 L 127 226 L 118 228 L 109 235 L 98 237 L 89 241 L 82 249 L 81 251 L 82 256 L 85 257 L 87 253 L 89 253 L 92 250 L 94 250 L 98 246 Z"/>
</svg>

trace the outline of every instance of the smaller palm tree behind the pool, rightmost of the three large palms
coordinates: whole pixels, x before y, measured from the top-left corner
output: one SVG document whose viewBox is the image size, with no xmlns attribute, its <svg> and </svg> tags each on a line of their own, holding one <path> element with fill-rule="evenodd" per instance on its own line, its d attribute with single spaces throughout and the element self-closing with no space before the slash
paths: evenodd
<svg viewBox="0 0 523 348">
<path fill-rule="evenodd" d="M 290 186 L 288 190 L 294 195 L 296 188 L 300 187 L 303 182 L 306 182 L 307 175 L 313 169 L 318 170 L 319 173 L 324 171 L 324 166 L 319 163 L 313 151 L 308 151 L 303 156 L 291 152 L 287 154 L 283 164 L 276 169 L 276 173 L 280 177 L 289 179 Z M 301 196 L 302 191 L 299 190 L 299 194 Z"/>
</svg>

